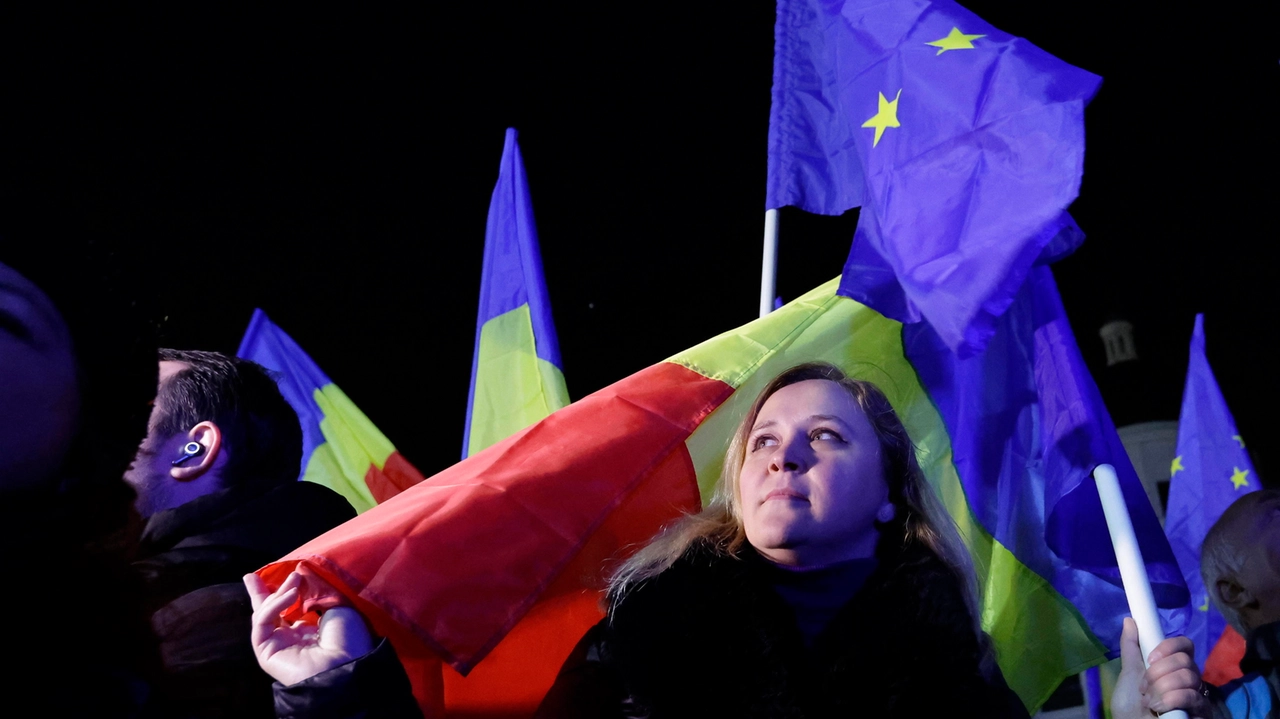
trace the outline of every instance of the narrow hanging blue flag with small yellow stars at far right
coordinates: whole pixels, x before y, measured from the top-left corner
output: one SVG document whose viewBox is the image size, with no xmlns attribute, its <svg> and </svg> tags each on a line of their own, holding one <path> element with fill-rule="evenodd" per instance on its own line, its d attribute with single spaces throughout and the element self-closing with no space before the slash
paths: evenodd
<svg viewBox="0 0 1280 719">
<path fill-rule="evenodd" d="M 1201 580 L 1201 545 L 1222 512 L 1236 498 L 1257 489 L 1261 485 L 1249 453 L 1204 354 L 1204 316 L 1196 315 L 1183 411 L 1178 418 L 1176 457 L 1170 467 L 1165 532 L 1192 594 L 1194 610 L 1187 636 L 1196 642 L 1196 664 L 1206 672 L 1210 654 L 1229 628 Z M 1243 642 L 1235 644 L 1243 650 Z M 1239 655 L 1234 661 L 1228 659 L 1225 667 L 1219 668 L 1219 674 L 1224 669 L 1228 674 L 1217 677 L 1219 683 L 1240 676 L 1239 659 Z"/>
</svg>

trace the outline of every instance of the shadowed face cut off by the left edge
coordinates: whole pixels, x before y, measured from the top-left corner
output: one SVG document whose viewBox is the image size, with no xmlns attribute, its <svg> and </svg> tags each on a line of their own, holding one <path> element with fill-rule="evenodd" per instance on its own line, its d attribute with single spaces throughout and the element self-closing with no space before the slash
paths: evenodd
<svg viewBox="0 0 1280 719">
<path fill-rule="evenodd" d="M 67 325 L 44 292 L 0 265 L 0 489 L 56 471 L 78 411 Z"/>
</svg>

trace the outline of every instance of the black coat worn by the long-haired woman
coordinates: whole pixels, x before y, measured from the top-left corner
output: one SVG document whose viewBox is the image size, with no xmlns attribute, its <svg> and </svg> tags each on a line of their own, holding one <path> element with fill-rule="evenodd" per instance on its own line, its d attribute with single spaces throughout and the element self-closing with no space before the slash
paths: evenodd
<svg viewBox="0 0 1280 719">
<path fill-rule="evenodd" d="M 932 553 L 882 562 L 810 647 L 764 560 L 695 546 L 579 645 L 540 716 L 1027 716 Z"/>
</svg>

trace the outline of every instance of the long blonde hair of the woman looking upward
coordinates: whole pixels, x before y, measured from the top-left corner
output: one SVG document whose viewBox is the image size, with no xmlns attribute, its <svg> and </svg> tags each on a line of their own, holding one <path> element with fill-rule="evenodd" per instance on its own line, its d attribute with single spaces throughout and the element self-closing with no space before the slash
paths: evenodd
<svg viewBox="0 0 1280 719">
<path fill-rule="evenodd" d="M 719 484 L 710 503 L 701 512 L 687 514 L 666 527 L 618 567 L 609 581 L 612 603 L 617 605 L 630 589 L 660 574 L 695 542 L 705 544 L 719 555 L 737 555 L 746 541 L 739 484 L 742 463 L 746 459 L 748 435 L 760 415 L 760 408 L 776 391 L 808 380 L 832 381 L 847 391 L 867 415 L 879 440 L 884 481 L 888 485 L 890 502 L 897 512 L 892 521 L 877 525 L 881 531 L 877 557 L 896 557 L 901 550 L 915 545 L 942 560 L 955 574 L 977 632 L 980 614 L 969 551 L 960 540 L 960 532 L 951 516 L 924 478 L 924 472 L 915 459 L 915 445 L 908 436 L 906 427 L 879 388 L 865 380 L 849 377 L 840 367 L 826 362 L 791 367 L 760 391 L 733 432 L 724 454 Z"/>
</svg>

